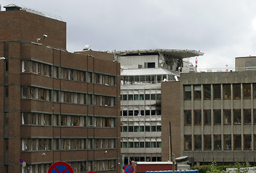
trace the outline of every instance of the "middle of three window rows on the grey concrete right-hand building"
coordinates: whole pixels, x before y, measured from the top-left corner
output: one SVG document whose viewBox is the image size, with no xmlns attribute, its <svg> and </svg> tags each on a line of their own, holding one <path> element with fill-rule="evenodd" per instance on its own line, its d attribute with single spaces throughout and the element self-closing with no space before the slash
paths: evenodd
<svg viewBox="0 0 256 173">
<path fill-rule="evenodd" d="M 203 122 L 202 122 L 202 113 L 203 113 Z M 194 125 L 211 125 L 211 110 L 194 110 Z M 243 115 L 243 120 L 242 120 Z M 256 123 L 256 110 L 253 110 L 253 120 L 252 120 L 252 111 L 249 109 L 244 110 L 233 110 L 233 116 L 231 110 L 223 110 L 223 124 L 230 125 L 233 124 L 252 124 Z M 192 125 L 192 110 L 184 110 L 184 124 Z M 221 110 L 213 110 L 213 124 L 221 124 Z"/>
</svg>

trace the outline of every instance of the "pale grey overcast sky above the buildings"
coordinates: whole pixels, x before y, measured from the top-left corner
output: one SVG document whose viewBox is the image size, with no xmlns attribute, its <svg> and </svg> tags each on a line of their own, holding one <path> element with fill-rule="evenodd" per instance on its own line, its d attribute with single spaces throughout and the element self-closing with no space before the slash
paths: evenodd
<svg viewBox="0 0 256 173">
<path fill-rule="evenodd" d="M 256 56 L 255 0 L 1 0 L 56 14 L 67 22 L 67 49 L 191 49 L 198 68 L 234 68 Z M 190 58 L 195 64 L 195 58 Z"/>
</svg>

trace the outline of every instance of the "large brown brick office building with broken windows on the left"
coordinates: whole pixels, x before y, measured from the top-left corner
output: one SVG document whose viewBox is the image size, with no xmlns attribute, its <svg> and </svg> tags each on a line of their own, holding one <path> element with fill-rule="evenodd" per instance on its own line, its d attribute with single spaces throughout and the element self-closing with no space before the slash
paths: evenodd
<svg viewBox="0 0 256 173">
<path fill-rule="evenodd" d="M 4 7 L 0 172 L 45 173 L 56 161 L 74 172 L 120 172 L 119 63 L 67 52 L 65 22 Z"/>
</svg>

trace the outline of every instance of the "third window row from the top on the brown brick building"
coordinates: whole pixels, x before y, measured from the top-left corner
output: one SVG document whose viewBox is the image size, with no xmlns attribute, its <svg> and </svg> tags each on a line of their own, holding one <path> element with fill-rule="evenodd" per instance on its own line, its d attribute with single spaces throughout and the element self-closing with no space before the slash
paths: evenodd
<svg viewBox="0 0 256 173">
<path fill-rule="evenodd" d="M 115 117 L 78 116 L 78 115 L 72 115 L 72 116 L 60 115 L 59 116 L 59 115 L 51 115 L 51 114 L 43 114 L 43 113 L 22 112 L 22 125 L 61 125 L 61 126 L 63 125 L 63 126 L 74 126 L 74 127 L 94 126 L 99 128 L 116 128 L 116 118 Z"/>
</svg>

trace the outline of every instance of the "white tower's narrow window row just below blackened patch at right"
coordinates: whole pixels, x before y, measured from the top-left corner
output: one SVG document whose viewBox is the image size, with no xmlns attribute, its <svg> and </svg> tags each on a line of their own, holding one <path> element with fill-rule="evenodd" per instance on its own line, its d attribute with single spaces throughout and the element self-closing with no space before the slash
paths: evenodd
<svg viewBox="0 0 256 173">
<path fill-rule="evenodd" d="M 161 110 L 121 110 L 121 116 L 161 115 Z"/>
</svg>

